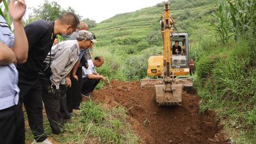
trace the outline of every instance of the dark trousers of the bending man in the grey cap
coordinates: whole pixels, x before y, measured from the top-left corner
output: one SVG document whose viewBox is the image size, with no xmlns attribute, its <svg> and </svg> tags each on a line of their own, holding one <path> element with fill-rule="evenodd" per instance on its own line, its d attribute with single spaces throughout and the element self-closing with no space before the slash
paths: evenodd
<svg viewBox="0 0 256 144">
<path fill-rule="evenodd" d="M 51 89 L 51 81 L 47 76 L 40 75 L 43 86 L 43 101 L 45 112 L 49 120 L 52 133 L 60 134 L 63 129 L 63 117 L 60 112 L 60 99 L 66 92 L 66 86 L 60 85 L 60 89 Z M 50 92 L 50 90 L 52 90 Z"/>
</svg>

